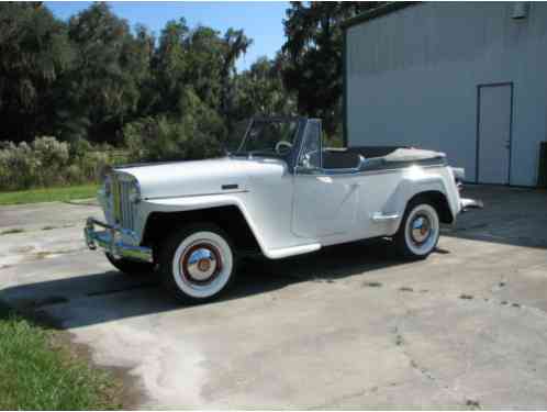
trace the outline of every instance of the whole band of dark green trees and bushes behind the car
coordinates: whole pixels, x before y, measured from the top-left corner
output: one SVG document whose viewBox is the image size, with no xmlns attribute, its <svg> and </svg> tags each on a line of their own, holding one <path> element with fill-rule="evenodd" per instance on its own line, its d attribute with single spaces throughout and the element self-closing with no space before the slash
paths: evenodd
<svg viewBox="0 0 547 412">
<path fill-rule="evenodd" d="M 156 42 L 107 3 L 68 22 L 41 2 L 0 3 L 0 188 L 93 181 L 126 160 L 112 146 L 133 162 L 216 156 L 256 114 L 323 118 L 339 145 L 341 22 L 375 5 L 293 2 L 282 51 L 238 74 L 253 43 L 242 30 L 180 18 Z"/>
</svg>

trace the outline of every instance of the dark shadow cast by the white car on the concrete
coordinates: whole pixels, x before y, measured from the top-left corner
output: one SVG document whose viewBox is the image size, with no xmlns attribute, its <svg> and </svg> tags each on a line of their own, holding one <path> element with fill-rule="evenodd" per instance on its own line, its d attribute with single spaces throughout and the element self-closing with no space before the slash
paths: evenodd
<svg viewBox="0 0 547 412">
<path fill-rule="evenodd" d="M 268 293 L 299 282 L 366 277 L 402 264 L 412 263 L 398 259 L 387 240 L 325 247 L 280 260 L 245 259 L 232 288 L 220 299 L 201 305 Z M 171 298 L 153 274 L 132 278 L 115 270 L 9 287 L 2 291 L 2 300 L 56 329 L 197 308 Z"/>
</svg>

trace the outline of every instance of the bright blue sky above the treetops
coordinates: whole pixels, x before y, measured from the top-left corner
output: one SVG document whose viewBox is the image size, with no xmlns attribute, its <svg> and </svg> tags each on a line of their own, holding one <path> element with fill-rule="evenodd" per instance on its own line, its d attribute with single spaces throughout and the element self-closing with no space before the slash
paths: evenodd
<svg viewBox="0 0 547 412">
<path fill-rule="evenodd" d="M 112 11 L 126 19 L 131 26 L 142 23 L 159 35 L 169 20 L 185 18 L 190 27 L 208 25 L 222 34 L 228 29 L 243 29 L 253 45 L 236 66 L 248 68 L 257 57 L 274 57 L 284 43 L 283 23 L 288 2 L 177 2 L 177 1 L 109 1 Z M 86 9 L 90 1 L 46 1 L 59 19 L 68 20 Z"/>
</svg>

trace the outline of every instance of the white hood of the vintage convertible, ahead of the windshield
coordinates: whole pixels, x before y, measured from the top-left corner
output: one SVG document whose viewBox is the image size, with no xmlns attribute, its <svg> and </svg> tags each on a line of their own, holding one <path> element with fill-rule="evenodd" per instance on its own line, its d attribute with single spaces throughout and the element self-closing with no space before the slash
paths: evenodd
<svg viewBox="0 0 547 412">
<path fill-rule="evenodd" d="M 265 160 L 223 157 L 206 160 L 175 162 L 116 168 L 133 176 L 144 199 L 216 194 L 248 190 L 249 176 L 260 172 Z M 281 160 L 268 164 L 283 167 Z"/>
</svg>

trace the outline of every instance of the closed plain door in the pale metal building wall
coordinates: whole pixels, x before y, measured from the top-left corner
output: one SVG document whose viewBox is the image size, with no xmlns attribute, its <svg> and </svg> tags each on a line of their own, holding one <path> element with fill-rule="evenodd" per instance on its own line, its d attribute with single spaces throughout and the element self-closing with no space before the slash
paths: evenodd
<svg viewBox="0 0 547 412">
<path fill-rule="evenodd" d="M 477 181 L 509 185 L 513 83 L 479 86 Z"/>
</svg>

